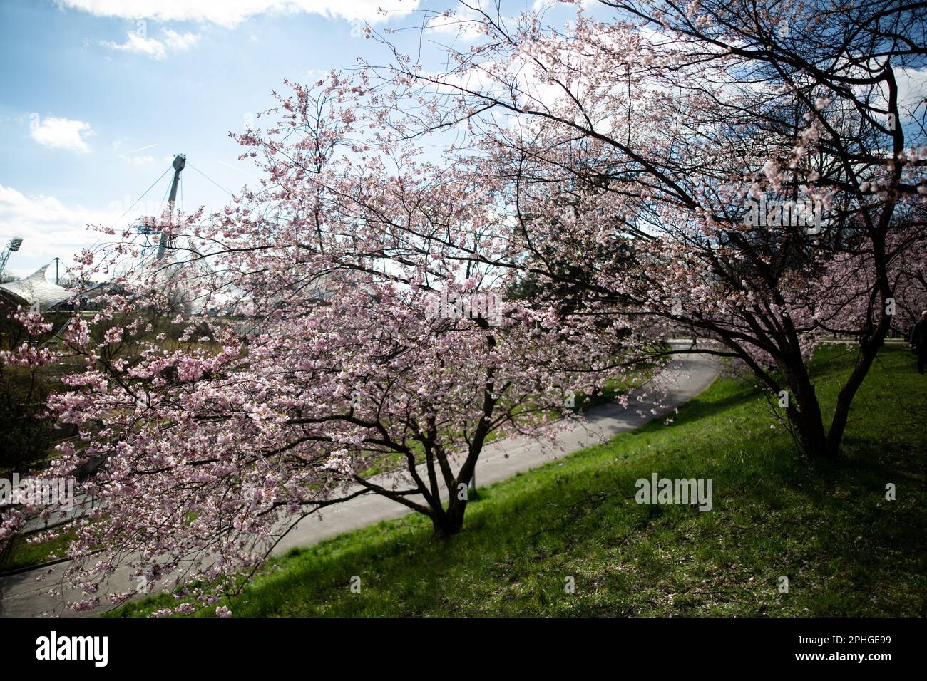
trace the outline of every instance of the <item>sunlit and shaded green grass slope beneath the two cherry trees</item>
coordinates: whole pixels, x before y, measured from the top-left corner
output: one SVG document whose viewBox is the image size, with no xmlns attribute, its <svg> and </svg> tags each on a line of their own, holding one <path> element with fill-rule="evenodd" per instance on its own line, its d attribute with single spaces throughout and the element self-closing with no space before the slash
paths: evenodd
<svg viewBox="0 0 927 681">
<path fill-rule="evenodd" d="M 851 359 L 819 352 L 825 406 Z M 800 460 L 742 381 L 717 380 L 674 417 L 481 488 L 446 542 L 424 518 L 379 523 L 291 551 L 228 605 L 235 616 L 927 614 L 927 378 L 907 349 L 879 355 L 838 464 Z M 654 472 L 712 478 L 714 509 L 637 504 L 635 481 Z"/>
</svg>

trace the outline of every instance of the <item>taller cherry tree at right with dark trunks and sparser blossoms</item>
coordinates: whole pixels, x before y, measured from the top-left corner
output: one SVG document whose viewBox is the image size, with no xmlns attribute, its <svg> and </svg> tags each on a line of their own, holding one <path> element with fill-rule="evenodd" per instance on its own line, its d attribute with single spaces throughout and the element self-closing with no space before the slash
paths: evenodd
<svg viewBox="0 0 927 681">
<path fill-rule="evenodd" d="M 836 456 L 896 303 L 922 289 L 924 107 L 906 83 L 923 6 L 608 0 L 554 24 L 461 5 L 480 38 L 442 46 L 446 69 L 385 39 L 392 57 L 366 65 L 392 134 L 473 150 L 535 286 L 714 344 L 790 394 L 807 455 Z M 828 424 L 807 361 L 835 334 L 857 361 Z"/>
</svg>

